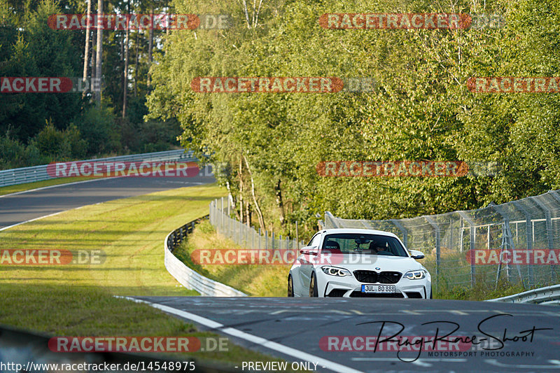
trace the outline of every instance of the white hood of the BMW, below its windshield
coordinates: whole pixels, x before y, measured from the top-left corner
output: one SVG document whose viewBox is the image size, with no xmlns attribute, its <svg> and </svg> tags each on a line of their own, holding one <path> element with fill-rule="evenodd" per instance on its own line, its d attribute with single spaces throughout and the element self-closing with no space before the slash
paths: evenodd
<svg viewBox="0 0 560 373">
<path fill-rule="evenodd" d="M 398 271 L 407 272 L 424 267 L 416 260 L 409 257 L 385 256 L 385 255 L 323 255 L 317 266 L 332 265 L 355 271 L 356 269 L 369 269 L 372 271 Z M 379 269 L 377 269 L 379 268 Z"/>
</svg>

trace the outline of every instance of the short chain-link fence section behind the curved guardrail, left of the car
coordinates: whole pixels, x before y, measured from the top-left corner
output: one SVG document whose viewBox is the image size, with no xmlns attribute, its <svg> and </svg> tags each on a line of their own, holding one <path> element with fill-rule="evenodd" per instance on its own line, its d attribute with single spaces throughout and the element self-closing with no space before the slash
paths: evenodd
<svg viewBox="0 0 560 373">
<path fill-rule="evenodd" d="M 294 250 L 298 251 L 305 246 L 304 241 L 275 235 L 274 232 L 255 230 L 251 225 L 244 224 L 230 218 L 233 208 L 230 199 L 222 197 L 210 204 L 210 223 L 219 234 L 235 241 L 239 246 L 250 249 L 262 250 Z"/>
</svg>

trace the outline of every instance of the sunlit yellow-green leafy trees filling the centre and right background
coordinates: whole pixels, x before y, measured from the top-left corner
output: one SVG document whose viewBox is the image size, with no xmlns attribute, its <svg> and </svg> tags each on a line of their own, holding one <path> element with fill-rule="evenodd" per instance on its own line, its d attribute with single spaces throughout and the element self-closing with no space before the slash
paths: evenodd
<svg viewBox="0 0 560 373">
<path fill-rule="evenodd" d="M 202 7 L 173 3 L 178 13 Z M 183 146 L 229 162 L 223 183 L 255 211 L 244 155 L 268 228 L 293 233 L 299 220 L 312 230 L 314 216 L 325 210 L 344 218 L 402 218 L 560 188 L 559 96 L 474 94 L 466 85 L 472 76 L 558 76 L 558 1 L 265 0 L 257 27 L 248 27 L 239 3 L 207 3 L 207 13 L 232 14 L 234 27 L 166 38 L 165 55 L 153 66 L 150 116 L 177 118 Z M 498 13 L 506 24 L 451 31 L 318 24 L 323 13 L 360 12 Z M 201 94 L 190 88 L 197 76 L 368 76 L 377 87 Z M 318 176 L 316 164 L 331 160 L 494 161 L 501 169 L 496 176 L 456 178 Z"/>
</svg>

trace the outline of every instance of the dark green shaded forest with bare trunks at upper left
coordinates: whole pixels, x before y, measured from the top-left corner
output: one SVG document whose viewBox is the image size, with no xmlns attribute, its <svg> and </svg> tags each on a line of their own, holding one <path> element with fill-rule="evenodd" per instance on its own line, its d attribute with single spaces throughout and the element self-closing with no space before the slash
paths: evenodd
<svg viewBox="0 0 560 373">
<path fill-rule="evenodd" d="M 104 12 L 146 13 L 153 8 L 157 13 L 166 2 L 105 1 Z M 92 4 L 95 13 L 97 1 Z M 85 8 L 84 0 L 0 0 L 0 76 L 83 76 L 85 31 L 50 29 L 47 20 L 58 13 L 84 13 Z M 162 31 L 154 33 L 157 49 Z M 93 48 L 96 31 L 90 38 Z M 125 40 L 123 30 L 104 31 L 101 107 L 92 102 L 90 92 L 85 97 L 79 92 L 0 94 L 0 169 L 179 146 L 176 136 L 181 129 L 176 120 L 144 121 L 150 90 L 147 30 L 130 31 L 128 105 L 123 118 Z"/>
</svg>

